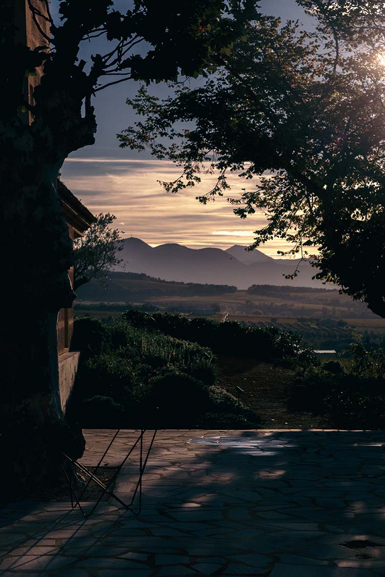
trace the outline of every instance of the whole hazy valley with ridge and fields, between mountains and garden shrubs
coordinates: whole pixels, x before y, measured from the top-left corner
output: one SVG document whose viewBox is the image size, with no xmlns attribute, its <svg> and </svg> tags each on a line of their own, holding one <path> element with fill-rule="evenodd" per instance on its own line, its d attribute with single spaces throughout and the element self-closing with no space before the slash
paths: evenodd
<svg viewBox="0 0 385 577">
<path fill-rule="evenodd" d="M 162 311 L 251 326 L 274 325 L 300 335 L 313 349 L 343 351 L 355 342 L 385 348 L 385 320 L 337 289 L 260 284 L 237 290 L 112 272 L 105 286 L 94 280 L 80 287 L 79 297 L 78 317 L 108 319 L 128 309 Z"/>
</svg>

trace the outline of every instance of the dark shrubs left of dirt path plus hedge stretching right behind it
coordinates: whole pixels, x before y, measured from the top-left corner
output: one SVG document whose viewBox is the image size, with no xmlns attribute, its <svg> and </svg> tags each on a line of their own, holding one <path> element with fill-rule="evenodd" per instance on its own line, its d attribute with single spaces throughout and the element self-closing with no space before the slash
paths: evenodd
<svg viewBox="0 0 385 577">
<path fill-rule="evenodd" d="M 133 310 L 104 324 L 77 319 L 73 347 L 82 361 L 67 414 L 91 428 L 257 428 L 258 415 L 216 385 L 214 351 L 301 365 L 313 358 L 279 329 Z"/>
</svg>

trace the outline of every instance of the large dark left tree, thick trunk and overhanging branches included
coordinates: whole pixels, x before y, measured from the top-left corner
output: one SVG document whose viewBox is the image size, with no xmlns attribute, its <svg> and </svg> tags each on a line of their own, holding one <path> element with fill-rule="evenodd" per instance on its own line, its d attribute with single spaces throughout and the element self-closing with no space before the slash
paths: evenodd
<svg viewBox="0 0 385 577">
<path fill-rule="evenodd" d="M 0 0 L 0 230 L 9 279 L 0 440 L 12 481 L 40 482 L 55 474 L 61 451 L 77 457 L 84 447 L 81 434 L 62 419 L 58 392 L 57 315 L 74 298 L 59 170 L 70 152 L 94 143 L 92 99 L 99 91 L 130 78 L 196 76 L 242 34 L 253 2 L 134 0 L 121 13 L 112 0 L 63 0 L 54 21 L 47 0 L 28 0 L 41 39 L 35 47 L 18 43 L 14 14 L 24 5 Z M 109 41 L 107 52 L 80 59 L 82 44 L 101 36 Z M 40 82 L 29 81 L 36 76 Z"/>
</svg>

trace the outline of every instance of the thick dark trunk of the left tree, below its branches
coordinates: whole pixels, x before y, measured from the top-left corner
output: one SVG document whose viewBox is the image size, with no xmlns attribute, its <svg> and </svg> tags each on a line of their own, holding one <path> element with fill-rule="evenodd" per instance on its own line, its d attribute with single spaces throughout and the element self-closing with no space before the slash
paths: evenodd
<svg viewBox="0 0 385 577">
<path fill-rule="evenodd" d="M 58 167 L 36 161 L 20 170 L 20 156 L 10 150 L 2 163 L 8 173 L 3 273 L 10 282 L 2 306 L 0 439 L 13 487 L 57 477 L 62 451 L 73 458 L 84 451 L 81 430 L 63 419 L 59 395 L 57 316 L 72 305 L 74 293 L 66 272 L 72 241 L 57 196 Z"/>
</svg>

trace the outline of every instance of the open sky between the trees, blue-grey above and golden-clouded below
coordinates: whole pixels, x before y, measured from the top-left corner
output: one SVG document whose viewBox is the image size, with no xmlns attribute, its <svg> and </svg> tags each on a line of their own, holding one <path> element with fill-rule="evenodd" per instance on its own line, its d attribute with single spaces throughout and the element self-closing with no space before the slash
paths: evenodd
<svg viewBox="0 0 385 577">
<path fill-rule="evenodd" d="M 118 0 L 115 5 L 123 10 L 128 2 Z M 53 13 L 55 6 L 57 2 L 51 2 Z M 279 16 L 283 21 L 306 21 L 295 0 L 262 0 L 259 6 L 261 12 Z M 84 59 L 89 59 L 90 46 L 83 48 Z M 92 52 L 98 51 L 106 51 L 102 41 L 98 46 L 92 45 Z M 122 237 L 141 238 L 152 246 L 178 242 L 190 248 L 225 249 L 234 244 L 251 244 L 253 231 L 266 222 L 262 213 L 241 220 L 234 215 L 226 197 L 200 204 L 195 197 L 212 188 L 212 177 L 205 177 L 200 186 L 187 192 L 167 193 L 158 180 L 173 180 L 180 175 L 180 168 L 168 160 L 151 158 L 148 152 L 119 148 L 116 134 L 134 122 L 134 113 L 125 100 L 137 88 L 138 83 L 128 81 L 98 92 L 93 102 L 98 121 L 96 143 L 66 159 L 62 180 L 93 213 L 110 212 L 117 216 L 114 227 L 122 231 Z M 166 97 L 167 90 L 165 85 L 156 85 L 152 93 Z M 232 197 L 237 197 L 245 186 L 255 185 L 236 175 L 229 182 Z M 276 251 L 288 248 L 282 239 L 274 239 L 260 250 L 278 258 Z"/>
</svg>

